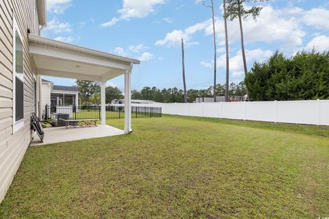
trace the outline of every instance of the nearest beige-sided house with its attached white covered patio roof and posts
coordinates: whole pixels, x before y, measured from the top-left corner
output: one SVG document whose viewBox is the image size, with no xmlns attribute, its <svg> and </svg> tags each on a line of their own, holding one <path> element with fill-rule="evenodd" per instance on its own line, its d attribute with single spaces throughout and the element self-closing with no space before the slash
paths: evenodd
<svg viewBox="0 0 329 219">
<path fill-rule="evenodd" d="M 102 125 L 106 125 L 106 81 L 124 75 L 124 133 L 130 133 L 131 75 L 134 64 L 140 62 L 41 37 L 47 25 L 46 0 L 1 0 L 0 15 L 2 201 L 34 137 L 30 116 L 42 114 L 40 75 L 101 82 Z"/>
</svg>

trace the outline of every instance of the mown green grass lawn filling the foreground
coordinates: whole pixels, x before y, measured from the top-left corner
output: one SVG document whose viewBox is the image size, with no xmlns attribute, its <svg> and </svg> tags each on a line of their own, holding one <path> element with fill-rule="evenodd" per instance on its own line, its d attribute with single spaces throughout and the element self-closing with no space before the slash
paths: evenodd
<svg viewBox="0 0 329 219">
<path fill-rule="evenodd" d="M 328 127 L 163 116 L 133 129 L 29 148 L 0 218 L 329 216 Z"/>
</svg>

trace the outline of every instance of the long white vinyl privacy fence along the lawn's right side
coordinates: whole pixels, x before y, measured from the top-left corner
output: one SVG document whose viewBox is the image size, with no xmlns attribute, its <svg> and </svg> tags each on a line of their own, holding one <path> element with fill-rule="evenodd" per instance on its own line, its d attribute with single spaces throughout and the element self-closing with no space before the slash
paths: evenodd
<svg viewBox="0 0 329 219">
<path fill-rule="evenodd" d="M 230 118 L 273 123 L 329 125 L 329 100 L 239 103 L 152 103 L 163 114 Z"/>
</svg>

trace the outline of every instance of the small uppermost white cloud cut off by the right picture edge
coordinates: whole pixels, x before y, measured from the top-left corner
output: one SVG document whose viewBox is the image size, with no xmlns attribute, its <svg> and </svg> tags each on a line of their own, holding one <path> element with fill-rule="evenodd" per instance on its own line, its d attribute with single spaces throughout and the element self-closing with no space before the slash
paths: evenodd
<svg viewBox="0 0 329 219">
<path fill-rule="evenodd" d="M 329 29 L 329 10 L 313 8 L 304 12 L 303 21 L 317 29 Z"/>
</svg>

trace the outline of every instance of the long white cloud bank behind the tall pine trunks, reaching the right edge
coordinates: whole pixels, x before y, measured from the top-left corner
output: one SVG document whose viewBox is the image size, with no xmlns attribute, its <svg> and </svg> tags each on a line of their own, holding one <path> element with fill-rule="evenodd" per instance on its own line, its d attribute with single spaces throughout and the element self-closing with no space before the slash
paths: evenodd
<svg viewBox="0 0 329 219">
<path fill-rule="evenodd" d="M 271 5 L 263 8 L 257 21 L 252 17 L 243 21 L 245 42 L 279 42 L 288 51 L 293 51 L 303 44 L 306 32 L 304 25 L 310 25 L 318 29 L 329 28 L 329 10 L 315 8 L 302 10 L 301 8 L 274 9 Z M 216 18 L 215 21 L 217 39 L 219 45 L 225 44 L 223 19 Z M 240 41 L 239 22 L 228 22 L 228 37 L 230 43 Z M 158 40 L 157 45 L 172 47 L 180 43 L 180 39 L 191 40 L 193 34 L 204 31 L 206 36 L 212 35 L 212 22 L 210 19 L 196 23 L 186 29 L 175 29 L 168 33 L 163 40 Z"/>
</svg>

